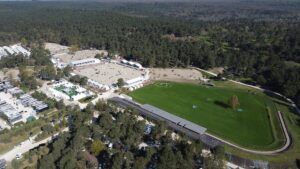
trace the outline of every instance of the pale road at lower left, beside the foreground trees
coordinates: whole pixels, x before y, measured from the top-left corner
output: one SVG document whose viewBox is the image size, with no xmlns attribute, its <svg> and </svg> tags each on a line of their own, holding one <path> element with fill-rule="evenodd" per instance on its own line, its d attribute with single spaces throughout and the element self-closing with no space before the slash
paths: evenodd
<svg viewBox="0 0 300 169">
<path fill-rule="evenodd" d="M 63 132 L 64 131 L 68 131 L 69 128 L 65 128 L 64 130 L 62 130 Z M 59 133 L 56 133 L 54 134 L 53 136 L 57 136 Z M 33 136 L 33 139 L 36 137 L 37 135 Z M 49 141 L 52 140 L 52 136 L 44 139 L 44 140 L 41 140 L 41 141 L 38 141 L 38 142 L 31 142 L 29 140 L 26 140 L 24 142 L 21 143 L 21 145 L 18 145 L 16 146 L 15 148 L 13 148 L 12 150 L 10 150 L 9 152 L 3 154 L 0 156 L 0 159 L 5 159 L 6 161 L 12 161 L 17 154 L 24 154 L 26 152 L 28 152 L 29 150 L 35 148 L 35 147 L 38 147 L 39 145 L 41 144 L 45 144 Z"/>
</svg>

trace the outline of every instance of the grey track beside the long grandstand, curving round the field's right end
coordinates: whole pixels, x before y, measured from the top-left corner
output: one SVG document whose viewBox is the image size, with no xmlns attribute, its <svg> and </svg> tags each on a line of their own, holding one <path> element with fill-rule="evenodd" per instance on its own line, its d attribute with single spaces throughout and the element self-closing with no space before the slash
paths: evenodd
<svg viewBox="0 0 300 169">
<path fill-rule="evenodd" d="M 233 143 L 230 143 L 226 140 L 223 140 L 219 137 L 216 137 L 214 135 L 211 135 L 209 133 L 205 133 L 203 135 L 200 135 L 198 133 L 195 133 L 193 131 L 190 131 L 186 128 L 182 128 L 181 126 L 178 126 L 177 124 L 175 123 L 172 123 L 166 119 L 163 119 L 162 117 L 160 116 L 157 116 L 143 108 L 140 107 L 140 104 L 138 103 L 135 103 L 133 101 L 130 101 L 130 100 L 126 100 L 126 99 L 123 99 L 123 98 L 118 98 L 118 97 L 114 97 L 111 99 L 112 101 L 116 102 L 119 106 L 123 107 L 123 108 L 126 108 L 126 107 L 133 107 L 135 108 L 137 111 L 140 112 L 140 114 L 144 115 L 144 116 L 147 116 L 147 117 L 150 117 L 150 118 L 153 118 L 155 120 L 163 120 L 163 121 L 166 121 L 167 124 L 169 125 L 169 127 L 173 128 L 174 130 L 176 131 L 180 131 L 182 133 L 185 133 L 187 136 L 189 136 L 190 138 L 192 139 L 200 139 L 202 141 L 204 141 L 205 144 L 207 144 L 208 146 L 216 146 L 220 143 L 223 143 L 223 144 L 227 144 L 227 145 L 230 145 L 232 147 L 235 147 L 235 148 L 238 148 L 240 150 L 243 150 L 243 151 L 246 151 L 246 152 L 250 152 L 250 153 L 254 153 L 254 154 L 263 154 L 263 155 L 274 155 L 274 154 L 277 154 L 277 153 L 280 153 L 282 151 L 285 151 L 291 144 L 291 140 L 290 140 L 290 137 L 289 137 L 289 134 L 288 134 L 288 131 L 286 129 L 286 126 L 285 126 L 285 123 L 284 123 L 284 120 L 282 118 L 282 115 L 281 115 L 281 112 L 278 112 L 278 117 L 280 119 L 280 123 L 281 123 L 281 127 L 284 131 L 284 134 L 285 134 L 285 137 L 286 137 L 286 143 L 283 147 L 279 148 L 279 149 L 276 149 L 276 150 L 273 150 L 273 151 L 257 151 L 257 150 L 251 150 L 251 149 L 247 149 L 247 148 L 244 148 L 244 147 L 240 147 L 236 144 L 233 144 Z"/>
</svg>

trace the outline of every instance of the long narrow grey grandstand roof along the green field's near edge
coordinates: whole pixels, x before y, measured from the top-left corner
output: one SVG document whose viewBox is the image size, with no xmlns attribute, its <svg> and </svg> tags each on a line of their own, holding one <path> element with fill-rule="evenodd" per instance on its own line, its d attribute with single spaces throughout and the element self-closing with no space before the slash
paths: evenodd
<svg viewBox="0 0 300 169">
<path fill-rule="evenodd" d="M 185 120 L 183 118 L 180 118 L 178 116 L 175 116 L 173 114 L 170 114 L 164 110 L 161 110 L 157 107 L 154 107 L 149 104 L 144 104 L 141 106 L 143 109 L 150 111 L 151 113 L 154 113 L 164 119 L 167 119 L 169 121 L 172 121 L 173 123 L 176 123 L 180 126 L 183 126 L 189 130 L 192 130 L 193 132 L 199 133 L 199 134 L 204 134 L 206 131 L 206 128 L 199 126 L 193 122 L 190 122 L 188 120 Z"/>
</svg>

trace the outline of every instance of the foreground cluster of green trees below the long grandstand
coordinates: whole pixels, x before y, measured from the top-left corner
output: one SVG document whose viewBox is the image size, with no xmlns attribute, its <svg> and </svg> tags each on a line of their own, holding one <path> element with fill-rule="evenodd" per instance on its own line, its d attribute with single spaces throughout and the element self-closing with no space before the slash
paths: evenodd
<svg viewBox="0 0 300 169">
<path fill-rule="evenodd" d="M 94 111 L 100 114 L 98 118 L 93 118 Z M 62 104 L 60 114 L 68 114 L 70 132 L 59 135 L 47 147 L 29 152 L 29 159 L 40 156 L 37 168 L 218 169 L 224 165 L 222 147 L 213 149 L 215 156 L 203 158 L 201 142 L 188 144 L 183 135 L 181 140 L 174 141 L 171 132 L 164 134 L 167 127 L 164 122 L 158 122 L 151 134 L 144 134 L 145 121 L 137 120 L 137 112 L 132 109 L 120 113 L 112 103 L 100 100 L 82 111 Z M 87 123 L 91 120 L 92 124 Z M 51 125 L 44 128 L 47 132 L 53 130 Z M 150 146 L 139 148 L 143 141 Z M 109 143 L 113 146 L 107 146 Z M 18 168 L 20 164 L 15 160 L 13 166 Z"/>
</svg>

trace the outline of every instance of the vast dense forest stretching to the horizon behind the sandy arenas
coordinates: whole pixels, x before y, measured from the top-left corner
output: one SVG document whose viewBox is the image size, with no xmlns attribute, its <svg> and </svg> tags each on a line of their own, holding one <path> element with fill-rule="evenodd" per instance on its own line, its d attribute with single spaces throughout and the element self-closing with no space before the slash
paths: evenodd
<svg viewBox="0 0 300 169">
<path fill-rule="evenodd" d="M 148 67 L 223 67 L 300 105 L 298 2 L 0 2 L 0 18 L 0 45 L 56 42 Z"/>
</svg>

